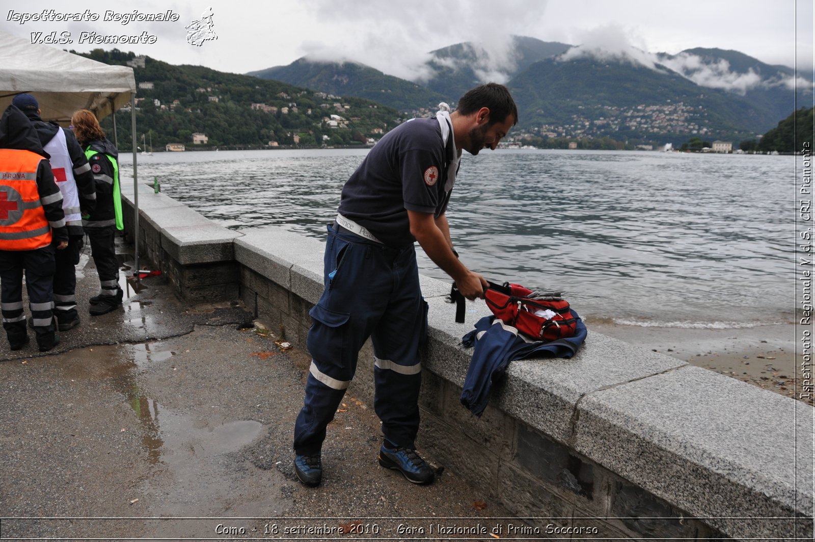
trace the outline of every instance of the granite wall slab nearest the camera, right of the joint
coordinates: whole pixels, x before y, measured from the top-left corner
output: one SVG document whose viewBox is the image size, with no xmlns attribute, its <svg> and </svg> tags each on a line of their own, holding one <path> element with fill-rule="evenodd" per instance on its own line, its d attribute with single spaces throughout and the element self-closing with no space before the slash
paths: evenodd
<svg viewBox="0 0 815 542">
<path fill-rule="evenodd" d="M 812 457 L 795 450 L 796 440 L 813 442 L 812 420 L 804 403 L 682 367 L 588 393 L 574 446 L 690 513 L 812 517 Z"/>
</svg>

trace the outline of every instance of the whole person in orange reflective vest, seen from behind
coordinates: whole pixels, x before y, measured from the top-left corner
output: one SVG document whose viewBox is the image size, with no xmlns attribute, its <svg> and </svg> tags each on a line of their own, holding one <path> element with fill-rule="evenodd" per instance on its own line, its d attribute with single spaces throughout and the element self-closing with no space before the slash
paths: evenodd
<svg viewBox="0 0 815 542">
<path fill-rule="evenodd" d="M 25 114 L 9 105 L 0 118 L 0 309 L 9 346 L 29 342 L 23 273 L 40 352 L 59 343 L 54 322 L 55 249 L 68 247 L 62 193 Z"/>
</svg>

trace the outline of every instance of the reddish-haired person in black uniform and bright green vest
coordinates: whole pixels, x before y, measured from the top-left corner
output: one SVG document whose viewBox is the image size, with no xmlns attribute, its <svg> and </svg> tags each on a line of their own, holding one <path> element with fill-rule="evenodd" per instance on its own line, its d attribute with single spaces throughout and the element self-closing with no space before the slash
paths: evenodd
<svg viewBox="0 0 815 542">
<path fill-rule="evenodd" d="M 90 255 L 99 273 L 101 291 L 90 298 L 90 315 L 109 313 L 121 306 L 124 292 L 119 287 L 119 263 L 115 236 L 121 224 L 119 151 L 105 137 L 94 113 L 80 109 L 71 117 L 73 133 L 90 163 L 96 184 L 96 207 L 83 216 L 82 226 L 90 239 Z"/>
</svg>

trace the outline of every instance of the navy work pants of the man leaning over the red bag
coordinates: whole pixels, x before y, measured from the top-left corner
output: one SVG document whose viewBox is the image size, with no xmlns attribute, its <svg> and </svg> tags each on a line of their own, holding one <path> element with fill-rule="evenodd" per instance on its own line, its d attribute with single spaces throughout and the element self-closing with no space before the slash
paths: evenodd
<svg viewBox="0 0 815 542">
<path fill-rule="evenodd" d="M 294 427 L 294 451 L 320 451 L 368 337 L 374 350 L 374 410 L 382 433 L 396 446 L 413 448 L 419 429 L 419 347 L 427 335 L 416 251 L 412 245 L 385 247 L 335 228 L 328 227 L 325 290 L 310 311 L 312 362 Z"/>
</svg>

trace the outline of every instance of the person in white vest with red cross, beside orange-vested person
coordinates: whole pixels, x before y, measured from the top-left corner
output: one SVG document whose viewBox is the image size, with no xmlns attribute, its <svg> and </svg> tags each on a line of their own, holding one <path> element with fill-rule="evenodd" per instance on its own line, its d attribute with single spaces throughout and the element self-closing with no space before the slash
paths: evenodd
<svg viewBox="0 0 815 542">
<path fill-rule="evenodd" d="M 94 175 L 73 132 L 56 122 L 40 118 L 37 100 L 30 94 L 18 94 L 11 102 L 29 118 L 37 130 L 43 149 L 51 155 L 51 170 L 62 193 L 62 209 L 68 226 L 68 248 L 56 253 L 54 273 L 54 309 L 59 331 L 79 325 L 77 313 L 77 274 L 75 266 L 84 245 L 85 230 L 81 215 L 89 215 L 96 206 Z"/>
</svg>

